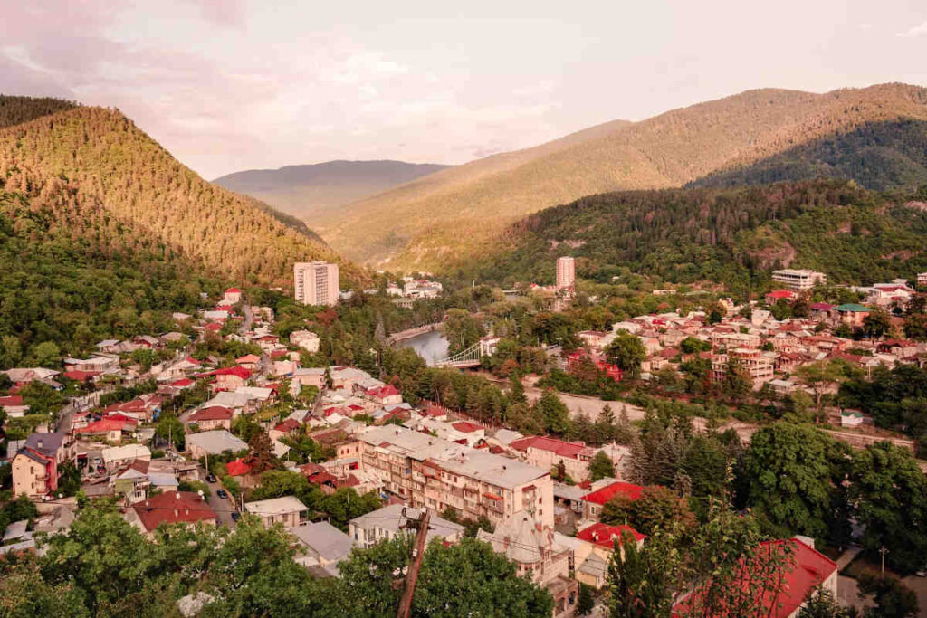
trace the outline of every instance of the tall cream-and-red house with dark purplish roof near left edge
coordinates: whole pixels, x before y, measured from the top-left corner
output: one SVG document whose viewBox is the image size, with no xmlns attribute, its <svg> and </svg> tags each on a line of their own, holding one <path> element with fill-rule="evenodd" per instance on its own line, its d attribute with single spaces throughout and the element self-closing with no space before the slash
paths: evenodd
<svg viewBox="0 0 927 618">
<path fill-rule="evenodd" d="M 13 495 L 40 498 L 53 494 L 60 478 L 59 468 L 72 460 L 64 434 L 35 433 L 12 460 Z"/>
</svg>

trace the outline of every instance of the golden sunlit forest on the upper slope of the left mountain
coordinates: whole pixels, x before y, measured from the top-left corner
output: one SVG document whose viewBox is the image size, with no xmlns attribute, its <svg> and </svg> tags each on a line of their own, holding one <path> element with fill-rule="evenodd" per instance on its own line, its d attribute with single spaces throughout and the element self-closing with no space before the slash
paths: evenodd
<svg viewBox="0 0 927 618">
<path fill-rule="evenodd" d="M 120 233 L 163 243 L 239 284 L 288 284 L 295 261 L 340 261 L 304 226 L 201 179 L 115 109 L 73 107 L 0 130 L 0 188 L 40 209 L 63 189 L 73 199 L 54 216 L 93 203 Z M 342 272 L 360 273 L 349 263 Z"/>
</svg>

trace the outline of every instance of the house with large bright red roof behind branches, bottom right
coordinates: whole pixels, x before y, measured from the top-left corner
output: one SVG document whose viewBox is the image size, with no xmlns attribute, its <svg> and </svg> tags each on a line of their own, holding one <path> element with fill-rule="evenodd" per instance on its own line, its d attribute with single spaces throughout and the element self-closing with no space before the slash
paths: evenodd
<svg viewBox="0 0 927 618">
<path fill-rule="evenodd" d="M 762 612 L 769 618 L 795 618 L 805 606 L 806 599 L 814 590 L 820 588 L 829 591 L 834 599 L 838 598 L 837 563 L 814 549 L 813 541 L 796 536 L 786 540 L 764 541 L 760 550 L 779 550 L 784 545 L 791 546 L 790 564 L 783 565 L 780 573 L 781 588 L 779 592 L 768 593 L 763 599 L 768 611 Z M 749 577 L 749 574 L 746 574 Z M 768 577 L 768 574 L 764 574 Z M 744 586 L 750 586 L 749 583 Z M 673 606 L 673 615 L 684 615 L 692 603 L 692 595 L 699 595 L 696 588 L 683 596 Z"/>
</svg>

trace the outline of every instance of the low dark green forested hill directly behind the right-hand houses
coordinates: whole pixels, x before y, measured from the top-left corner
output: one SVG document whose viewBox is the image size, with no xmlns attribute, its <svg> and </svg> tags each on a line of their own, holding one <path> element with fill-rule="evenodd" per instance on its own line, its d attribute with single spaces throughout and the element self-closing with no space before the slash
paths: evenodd
<svg viewBox="0 0 927 618">
<path fill-rule="evenodd" d="M 927 195 L 917 199 L 834 180 L 590 195 L 514 224 L 460 274 L 552 283 L 554 260 L 569 255 L 579 277 L 602 283 L 641 272 L 746 290 L 792 266 L 871 284 L 927 270 Z"/>
</svg>

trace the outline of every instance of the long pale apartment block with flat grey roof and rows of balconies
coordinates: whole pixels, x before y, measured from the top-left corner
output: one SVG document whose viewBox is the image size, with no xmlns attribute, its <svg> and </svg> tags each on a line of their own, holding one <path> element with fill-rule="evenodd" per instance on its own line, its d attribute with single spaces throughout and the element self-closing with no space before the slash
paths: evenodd
<svg viewBox="0 0 927 618">
<path fill-rule="evenodd" d="M 410 506 L 436 512 L 450 506 L 492 523 L 526 511 L 553 525 L 550 470 L 396 425 L 369 427 L 358 437 L 362 470 L 377 471 L 384 488 Z"/>
</svg>

